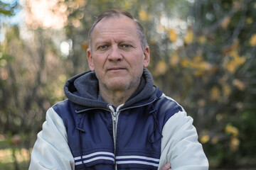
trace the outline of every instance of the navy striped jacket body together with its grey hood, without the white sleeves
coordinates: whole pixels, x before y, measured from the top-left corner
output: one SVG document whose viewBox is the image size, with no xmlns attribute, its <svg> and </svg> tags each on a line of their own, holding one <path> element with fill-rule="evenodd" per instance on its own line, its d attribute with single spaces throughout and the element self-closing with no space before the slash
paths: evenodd
<svg viewBox="0 0 256 170">
<path fill-rule="evenodd" d="M 95 72 L 78 74 L 64 86 L 68 100 L 53 106 L 63 119 L 75 169 L 157 169 L 162 128 L 182 108 L 162 96 L 147 69 L 120 108 L 100 98 L 98 83 Z"/>
</svg>

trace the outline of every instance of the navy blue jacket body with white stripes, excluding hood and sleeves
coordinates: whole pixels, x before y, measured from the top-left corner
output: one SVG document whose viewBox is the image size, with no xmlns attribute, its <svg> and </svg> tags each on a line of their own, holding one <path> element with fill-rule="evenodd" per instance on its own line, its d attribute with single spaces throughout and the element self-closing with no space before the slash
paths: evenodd
<svg viewBox="0 0 256 170">
<path fill-rule="evenodd" d="M 53 106 L 67 130 L 75 169 L 157 169 L 161 130 L 172 115 L 182 111 L 161 94 L 157 89 L 156 98 L 121 108 L 115 135 L 110 108 L 80 107 L 69 100 Z"/>
</svg>

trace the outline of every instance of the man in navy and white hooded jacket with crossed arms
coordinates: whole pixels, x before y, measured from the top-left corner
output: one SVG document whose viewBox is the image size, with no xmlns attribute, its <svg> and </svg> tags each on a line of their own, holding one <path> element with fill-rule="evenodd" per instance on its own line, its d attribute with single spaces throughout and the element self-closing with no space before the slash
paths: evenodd
<svg viewBox="0 0 256 170">
<path fill-rule="evenodd" d="M 89 39 L 91 71 L 48 110 L 30 169 L 208 169 L 193 119 L 153 85 L 138 21 L 105 11 Z"/>
</svg>

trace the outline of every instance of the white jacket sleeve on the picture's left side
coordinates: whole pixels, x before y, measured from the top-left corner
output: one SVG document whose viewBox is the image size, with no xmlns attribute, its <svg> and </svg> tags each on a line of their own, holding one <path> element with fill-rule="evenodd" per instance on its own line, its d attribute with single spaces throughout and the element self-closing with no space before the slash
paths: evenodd
<svg viewBox="0 0 256 170">
<path fill-rule="evenodd" d="M 29 170 L 34 169 L 75 169 L 65 125 L 53 108 L 47 111 L 43 130 L 38 133 L 38 139 L 33 147 Z"/>
</svg>

